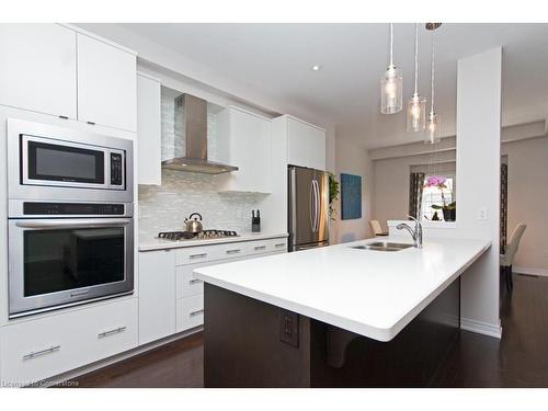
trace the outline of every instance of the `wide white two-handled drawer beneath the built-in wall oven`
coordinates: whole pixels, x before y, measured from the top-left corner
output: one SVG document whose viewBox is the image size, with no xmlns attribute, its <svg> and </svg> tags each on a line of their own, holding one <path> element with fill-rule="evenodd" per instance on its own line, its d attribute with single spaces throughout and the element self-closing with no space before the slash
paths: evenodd
<svg viewBox="0 0 548 411">
<path fill-rule="evenodd" d="M 4 384 L 30 384 L 137 346 L 137 298 L 7 326 Z"/>
</svg>

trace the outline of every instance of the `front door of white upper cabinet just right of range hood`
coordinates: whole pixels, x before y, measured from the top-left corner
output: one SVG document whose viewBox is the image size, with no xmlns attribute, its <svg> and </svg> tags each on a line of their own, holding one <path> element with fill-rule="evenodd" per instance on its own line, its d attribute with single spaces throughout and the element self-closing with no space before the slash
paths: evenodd
<svg viewBox="0 0 548 411">
<path fill-rule="evenodd" d="M 271 122 L 231 110 L 230 135 L 231 190 L 270 193 Z"/>
</svg>

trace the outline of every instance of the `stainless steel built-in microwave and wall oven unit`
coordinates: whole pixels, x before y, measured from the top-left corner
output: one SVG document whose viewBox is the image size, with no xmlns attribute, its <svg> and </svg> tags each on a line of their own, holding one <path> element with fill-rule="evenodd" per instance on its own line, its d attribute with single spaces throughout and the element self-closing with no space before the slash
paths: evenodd
<svg viewBox="0 0 548 411">
<path fill-rule="evenodd" d="M 132 140 L 8 121 L 9 313 L 134 289 Z"/>
</svg>

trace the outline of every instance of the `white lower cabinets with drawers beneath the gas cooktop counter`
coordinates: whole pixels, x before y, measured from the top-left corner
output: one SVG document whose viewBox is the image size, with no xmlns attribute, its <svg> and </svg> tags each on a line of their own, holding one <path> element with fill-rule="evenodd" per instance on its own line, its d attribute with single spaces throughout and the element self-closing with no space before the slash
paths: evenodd
<svg viewBox="0 0 548 411">
<path fill-rule="evenodd" d="M 197 267 L 287 251 L 287 238 L 206 244 L 139 253 L 139 344 L 204 323 Z"/>
</svg>

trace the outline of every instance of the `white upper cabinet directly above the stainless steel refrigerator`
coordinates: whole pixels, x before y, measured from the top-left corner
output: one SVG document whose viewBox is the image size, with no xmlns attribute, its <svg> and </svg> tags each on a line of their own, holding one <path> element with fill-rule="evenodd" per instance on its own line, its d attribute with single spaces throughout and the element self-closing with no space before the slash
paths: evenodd
<svg viewBox="0 0 548 411">
<path fill-rule="evenodd" d="M 287 117 L 287 162 L 326 170 L 326 130 Z"/>
</svg>

